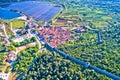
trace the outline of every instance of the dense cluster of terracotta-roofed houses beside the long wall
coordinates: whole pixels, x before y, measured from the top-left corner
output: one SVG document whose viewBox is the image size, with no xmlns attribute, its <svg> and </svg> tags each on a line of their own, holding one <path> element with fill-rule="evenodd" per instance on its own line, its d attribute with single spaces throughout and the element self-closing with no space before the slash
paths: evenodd
<svg viewBox="0 0 120 80">
<path fill-rule="evenodd" d="M 70 39 L 70 31 L 62 27 L 43 28 L 39 33 L 53 47 L 57 47 L 59 44 L 65 44 Z"/>
</svg>

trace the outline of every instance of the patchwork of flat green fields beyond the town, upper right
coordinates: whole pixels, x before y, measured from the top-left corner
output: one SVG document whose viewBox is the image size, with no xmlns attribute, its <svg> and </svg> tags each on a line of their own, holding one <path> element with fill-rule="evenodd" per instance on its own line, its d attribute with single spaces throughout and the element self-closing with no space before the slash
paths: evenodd
<svg viewBox="0 0 120 80">
<path fill-rule="evenodd" d="M 62 16 L 58 17 L 58 20 L 79 20 L 79 22 L 73 25 L 56 22 L 52 25 L 74 27 L 81 26 L 84 22 L 84 25 L 92 28 L 103 29 L 104 27 L 108 27 L 119 20 L 119 11 L 116 10 L 119 8 L 119 2 L 116 1 L 112 3 L 112 1 L 108 1 L 106 2 L 107 5 L 104 5 L 104 3 L 104 1 L 66 1 L 65 6 L 67 7 L 67 11 L 65 11 Z M 114 8 L 110 8 L 109 5 L 113 5 Z"/>
</svg>

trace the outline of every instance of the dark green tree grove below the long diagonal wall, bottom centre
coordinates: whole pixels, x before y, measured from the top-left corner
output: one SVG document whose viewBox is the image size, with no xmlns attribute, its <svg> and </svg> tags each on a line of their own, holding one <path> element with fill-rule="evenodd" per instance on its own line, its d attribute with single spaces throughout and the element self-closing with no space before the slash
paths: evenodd
<svg viewBox="0 0 120 80">
<path fill-rule="evenodd" d="M 94 71 L 84 70 L 81 66 L 58 56 L 56 53 L 44 53 L 39 56 L 22 80 L 96 80 L 108 79 Z M 91 74 L 91 75 L 90 75 Z"/>
</svg>

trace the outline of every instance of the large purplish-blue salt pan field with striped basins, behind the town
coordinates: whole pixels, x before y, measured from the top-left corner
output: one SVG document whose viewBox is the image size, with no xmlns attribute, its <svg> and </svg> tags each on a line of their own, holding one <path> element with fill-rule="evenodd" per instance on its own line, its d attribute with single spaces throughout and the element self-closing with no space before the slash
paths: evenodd
<svg viewBox="0 0 120 80">
<path fill-rule="evenodd" d="M 35 20 L 49 21 L 61 8 L 55 5 L 42 3 L 39 1 L 26 1 L 13 3 L 5 7 L 9 10 L 17 10 L 27 16 L 33 17 Z"/>
</svg>

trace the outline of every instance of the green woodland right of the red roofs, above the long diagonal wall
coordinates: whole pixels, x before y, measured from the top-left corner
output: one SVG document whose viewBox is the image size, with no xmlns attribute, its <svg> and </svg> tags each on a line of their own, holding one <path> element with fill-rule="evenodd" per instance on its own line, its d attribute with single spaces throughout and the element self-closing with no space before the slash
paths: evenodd
<svg viewBox="0 0 120 80">
<path fill-rule="evenodd" d="M 101 44 L 96 44 L 97 39 L 90 33 L 83 33 L 78 40 L 60 45 L 62 51 L 80 60 L 90 62 L 108 72 L 120 75 L 120 36 L 119 25 L 112 26 L 107 31 L 102 32 Z"/>
</svg>

